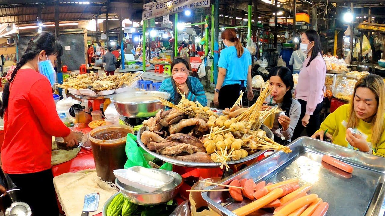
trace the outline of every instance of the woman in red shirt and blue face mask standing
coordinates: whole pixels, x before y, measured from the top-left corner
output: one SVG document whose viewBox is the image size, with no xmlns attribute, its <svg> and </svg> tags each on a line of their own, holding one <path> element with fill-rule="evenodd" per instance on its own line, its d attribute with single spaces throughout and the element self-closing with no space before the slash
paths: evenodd
<svg viewBox="0 0 385 216">
<path fill-rule="evenodd" d="M 67 146 L 77 143 L 72 131 L 57 115 L 51 83 L 42 75 L 49 70 L 38 70 L 39 61 L 49 60 L 45 63 L 54 65 L 57 56 L 62 54 L 62 45 L 52 33 L 36 35 L 3 90 L 2 168 L 21 190 L 34 216 L 59 215 L 51 171 L 52 136 L 63 137 Z M 42 64 L 39 65 L 42 68 Z"/>
</svg>

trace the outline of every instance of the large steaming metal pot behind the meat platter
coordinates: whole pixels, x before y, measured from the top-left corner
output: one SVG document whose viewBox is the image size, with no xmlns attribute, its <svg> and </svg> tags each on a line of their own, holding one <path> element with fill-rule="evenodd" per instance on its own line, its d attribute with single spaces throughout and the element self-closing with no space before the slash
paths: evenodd
<svg viewBox="0 0 385 216">
<path fill-rule="evenodd" d="M 127 102 L 129 98 L 146 98 L 152 96 L 154 98 L 163 98 L 168 100 L 170 94 L 161 91 L 136 91 L 133 93 L 121 93 L 115 95 L 110 100 L 114 103 L 116 111 L 128 118 L 148 118 L 155 116 L 157 111 L 164 109 L 166 106 L 159 104 L 160 100 L 147 100 L 138 102 Z"/>
</svg>

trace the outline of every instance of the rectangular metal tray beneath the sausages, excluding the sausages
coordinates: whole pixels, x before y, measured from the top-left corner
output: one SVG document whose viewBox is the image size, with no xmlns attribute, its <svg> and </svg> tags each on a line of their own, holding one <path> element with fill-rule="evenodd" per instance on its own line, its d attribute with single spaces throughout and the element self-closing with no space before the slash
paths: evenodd
<svg viewBox="0 0 385 216">
<path fill-rule="evenodd" d="M 300 137 L 290 143 L 292 153 L 276 151 L 272 155 L 234 173 L 220 183 L 233 179 L 252 178 L 255 182 L 277 183 L 299 178 L 300 186 L 313 185 L 309 193 L 318 194 L 329 203 L 327 216 L 383 216 L 385 211 L 385 158 L 369 155 L 343 146 L 326 143 L 309 137 Z M 321 163 L 323 155 L 330 155 L 353 166 L 348 174 Z M 209 186 L 207 189 L 223 189 Z M 209 208 L 222 216 L 235 216 L 231 211 L 251 201 L 235 202 L 228 191 L 202 193 Z M 259 210 L 253 216 L 273 216 Z"/>
</svg>

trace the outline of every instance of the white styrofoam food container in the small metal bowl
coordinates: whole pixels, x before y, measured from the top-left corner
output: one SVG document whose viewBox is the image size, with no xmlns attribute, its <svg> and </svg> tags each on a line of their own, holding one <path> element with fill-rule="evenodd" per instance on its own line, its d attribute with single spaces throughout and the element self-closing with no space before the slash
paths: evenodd
<svg viewBox="0 0 385 216">
<path fill-rule="evenodd" d="M 141 191 L 152 193 L 174 181 L 174 177 L 154 169 L 133 166 L 128 169 L 115 169 L 114 175 L 123 184 Z"/>
</svg>

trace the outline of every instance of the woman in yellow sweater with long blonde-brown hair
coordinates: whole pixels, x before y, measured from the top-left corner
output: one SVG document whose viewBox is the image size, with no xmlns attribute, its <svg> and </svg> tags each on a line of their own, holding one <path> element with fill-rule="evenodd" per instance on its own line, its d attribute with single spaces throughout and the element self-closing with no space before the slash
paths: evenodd
<svg viewBox="0 0 385 216">
<path fill-rule="evenodd" d="M 363 76 L 353 99 L 326 117 L 312 138 L 330 138 L 336 145 L 385 157 L 385 83 L 374 74 Z"/>
</svg>

